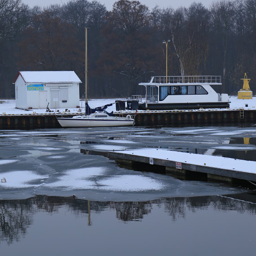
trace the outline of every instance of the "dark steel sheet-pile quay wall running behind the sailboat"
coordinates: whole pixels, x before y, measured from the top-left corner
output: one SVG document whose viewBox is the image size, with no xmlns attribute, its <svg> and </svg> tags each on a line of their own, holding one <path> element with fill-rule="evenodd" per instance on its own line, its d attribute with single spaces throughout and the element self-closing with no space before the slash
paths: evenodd
<svg viewBox="0 0 256 256">
<path fill-rule="evenodd" d="M 62 113 L 71 117 L 77 113 Z M 135 111 L 117 111 L 114 115 L 135 115 Z M 145 110 L 135 116 L 136 126 L 155 125 L 239 125 L 256 123 L 256 109 Z M 0 115 L 0 129 L 61 128 L 55 113 Z"/>
</svg>

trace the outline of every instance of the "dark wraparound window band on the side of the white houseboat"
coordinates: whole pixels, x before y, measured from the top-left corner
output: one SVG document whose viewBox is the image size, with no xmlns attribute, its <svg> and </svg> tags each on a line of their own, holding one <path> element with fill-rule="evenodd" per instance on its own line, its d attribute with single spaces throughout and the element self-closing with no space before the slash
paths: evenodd
<svg viewBox="0 0 256 256">
<path fill-rule="evenodd" d="M 160 101 L 163 101 L 168 95 L 207 94 L 207 91 L 199 85 L 159 86 L 159 91 Z"/>
</svg>

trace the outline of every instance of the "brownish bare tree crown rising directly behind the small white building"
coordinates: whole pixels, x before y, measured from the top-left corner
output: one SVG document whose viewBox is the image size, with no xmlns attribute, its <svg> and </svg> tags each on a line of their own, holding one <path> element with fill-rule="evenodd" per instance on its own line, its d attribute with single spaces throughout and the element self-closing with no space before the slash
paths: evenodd
<svg viewBox="0 0 256 256">
<path fill-rule="evenodd" d="M 47 11 L 34 17 L 34 27 L 25 31 L 19 44 L 22 54 L 18 65 L 27 70 L 79 70 L 84 61 L 83 47 L 73 26 L 52 17 Z"/>
</svg>

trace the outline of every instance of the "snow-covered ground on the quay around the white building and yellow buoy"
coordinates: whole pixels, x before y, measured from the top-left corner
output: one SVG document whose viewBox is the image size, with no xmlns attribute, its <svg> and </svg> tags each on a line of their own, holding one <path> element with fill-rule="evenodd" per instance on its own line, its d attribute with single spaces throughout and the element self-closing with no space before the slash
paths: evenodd
<svg viewBox="0 0 256 256">
<path fill-rule="evenodd" d="M 91 108 L 95 108 L 97 106 L 104 106 L 106 104 L 115 103 L 117 99 L 93 99 L 89 100 L 88 104 Z M 80 102 L 80 107 L 83 109 L 84 102 Z M 253 109 L 256 107 L 256 97 L 252 99 L 238 99 L 235 96 L 230 97 L 230 109 Z M 51 109 L 55 112 L 55 109 Z M 65 111 L 65 109 L 58 108 L 61 113 Z M 79 108 L 69 108 L 71 113 L 78 112 Z M 106 109 L 108 112 L 115 111 L 115 104 L 109 106 Z M 31 110 L 22 110 L 15 108 L 15 100 L 0 100 L 0 115 L 1 114 L 29 114 L 29 113 L 38 113 L 43 114 L 46 113 L 46 109 L 31 109 Z"/>
</svg>

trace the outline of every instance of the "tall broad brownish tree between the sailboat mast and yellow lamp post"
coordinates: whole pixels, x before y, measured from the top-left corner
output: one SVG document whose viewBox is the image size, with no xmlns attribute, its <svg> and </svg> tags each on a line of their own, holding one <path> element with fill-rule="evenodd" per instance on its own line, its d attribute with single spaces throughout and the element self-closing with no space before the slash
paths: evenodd
<svg viewBox="0 0 256 256">
<path fill-rule="evenodd" d="M 137 79 L 150 70 L 149 10 L 139 1 L 119 0 L 107 13 L 103 29 L 106 47 L 101 64 L 132 81 L 131 92 L 137 93 Z"/>
</svg>

